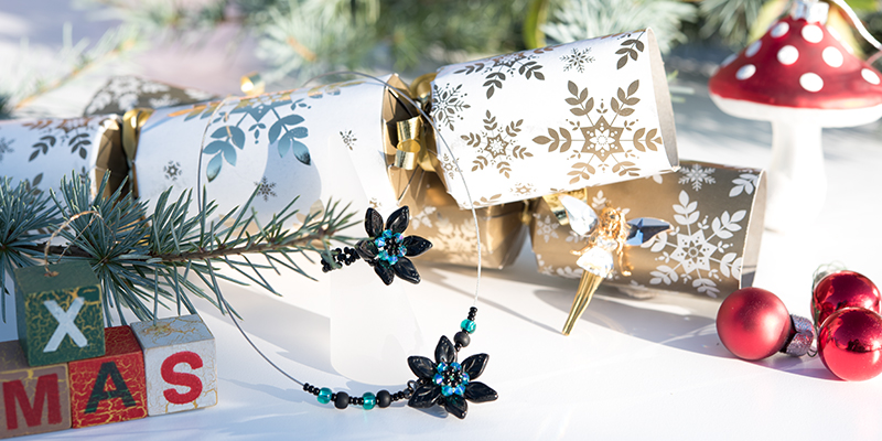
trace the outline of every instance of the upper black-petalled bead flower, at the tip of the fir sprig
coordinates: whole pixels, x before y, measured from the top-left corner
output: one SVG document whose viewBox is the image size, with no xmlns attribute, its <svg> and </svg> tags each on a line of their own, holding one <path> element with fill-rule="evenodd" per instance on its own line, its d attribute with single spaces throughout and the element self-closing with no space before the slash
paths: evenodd
<svg viewBox="0 0 882 441">
<path fill-rule="evenodd" d="M 410 222 L 410 209 L 402 206 L 395 211 L 383 226 L 383 216 L 374 208 L 367 208 L 365 230 L 368 238 L 361 240 L 355 249 L 386 284 L 391 284 L 397 275 L 411 283 L 420 282 L 420 275 L 408 257 L 416 257 L 432 248 L 432 243 L 419 236 L 402 233 Z"/>
</svg>

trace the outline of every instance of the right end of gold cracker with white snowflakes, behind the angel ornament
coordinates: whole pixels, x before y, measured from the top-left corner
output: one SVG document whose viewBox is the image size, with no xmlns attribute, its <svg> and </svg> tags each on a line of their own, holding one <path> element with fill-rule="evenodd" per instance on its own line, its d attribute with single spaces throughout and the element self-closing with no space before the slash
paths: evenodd
<svg viewBox="0 0 882 441">
<path fill-rule="evenodd" d="M 605 283 L 628 291 L 648 289 L 724 298 L 753 282 L 763 232 L 765 174 L 685 161 L 677 172 L 585 189 L 595 211 L 620 208 L 627 219 L 656 217 L 671 224 L 639 247 L 626 248 L 631 277 L 616 267 Z M 560 225 L 551 208 L 538 200 L 530 234 L 539 271 L 581 277 L 576 266 L 584 238 Z"/>
</svg>

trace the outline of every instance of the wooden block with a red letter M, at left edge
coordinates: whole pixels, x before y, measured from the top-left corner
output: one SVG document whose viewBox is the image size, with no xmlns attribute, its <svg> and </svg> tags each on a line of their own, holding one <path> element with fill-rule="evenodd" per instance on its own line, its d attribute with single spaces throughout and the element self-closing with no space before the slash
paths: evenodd
<svg viewBox="0 0 882 441">
<path fill-rule="evenodd" d="M 71 428 L 67 365 L 31 367 L 17 341 L 0 343 L 0 438 Z"/>
</svg>

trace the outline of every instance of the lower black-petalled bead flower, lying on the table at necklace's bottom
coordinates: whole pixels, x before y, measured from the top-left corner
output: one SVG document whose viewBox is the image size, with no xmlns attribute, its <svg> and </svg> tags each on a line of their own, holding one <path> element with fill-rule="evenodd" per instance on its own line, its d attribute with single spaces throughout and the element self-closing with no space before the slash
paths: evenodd
<svg viewBox="0 0 882 441">
<path fill-rule="evenodd" d="M 427 408 L 441 405 L 456 418 L 465 418 L 469 404 L 494 401 L 498 397 L 490 386 L 475 381 L 487 365 L 487 354 L 475 354 L 462 364 L 456 363 L 456 349 L 448 337 L 442 336 L 434 348 L 434 359 L 410 356 L 407 364 L 419 377 L 418 385 L 408 400 L 408 406 Z"/>
</svg>

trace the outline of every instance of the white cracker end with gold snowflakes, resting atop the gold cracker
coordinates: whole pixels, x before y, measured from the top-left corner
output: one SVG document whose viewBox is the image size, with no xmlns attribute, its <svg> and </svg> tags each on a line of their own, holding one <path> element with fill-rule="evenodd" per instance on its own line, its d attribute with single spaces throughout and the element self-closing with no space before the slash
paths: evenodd
<svg viewBox="0 0 882 441">
<path fill-rule="evenodd" d="M 442 67 L 432 116 L 439 174 L 464 208 L 648 176 L 678 162 L 650 30 Z"/>
</svg>

